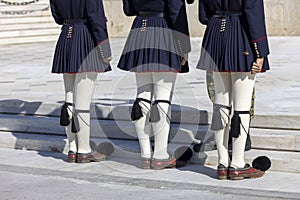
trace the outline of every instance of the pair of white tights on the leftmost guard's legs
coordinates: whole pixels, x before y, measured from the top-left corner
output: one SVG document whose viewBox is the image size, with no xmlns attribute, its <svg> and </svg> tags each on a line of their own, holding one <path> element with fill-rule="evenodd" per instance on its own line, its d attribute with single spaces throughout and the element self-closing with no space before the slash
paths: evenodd
<svg viewBox="0 0 300 200">
<path fill-rule="evenodd" d="M 94 72 L 64 74 L 66 102 L 74 103 L 75 110 L 78 111 L 78 121 L 80 127 L 78 133 L 72 133 L 70 131 L 71 125 L 69 125 L 66 128 L 66 132 L 70 144 L 70 150 L 73 151 L 77 149 L 78 153 L 89 153 L 92 151 L 90 148 L 89 110 L 96 79 L 97 73 Z"/>
</svg>

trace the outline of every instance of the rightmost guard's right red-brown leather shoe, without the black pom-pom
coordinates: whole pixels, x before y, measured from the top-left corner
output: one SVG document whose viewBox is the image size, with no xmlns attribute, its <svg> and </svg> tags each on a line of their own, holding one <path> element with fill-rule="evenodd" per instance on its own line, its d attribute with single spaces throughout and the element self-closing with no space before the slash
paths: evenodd
<svg viewBox="0 0 300 200">
<path fill-rule="evenodd" d="M 251 167 L 249 164 L 246 164 L 244 168 L 229 168 L 229 179 L 231 180 L 242 180 L 244 178 L 259 178 L 262 177 L 264 174 L 265 172 L 257 170 Z"/>
</svg>

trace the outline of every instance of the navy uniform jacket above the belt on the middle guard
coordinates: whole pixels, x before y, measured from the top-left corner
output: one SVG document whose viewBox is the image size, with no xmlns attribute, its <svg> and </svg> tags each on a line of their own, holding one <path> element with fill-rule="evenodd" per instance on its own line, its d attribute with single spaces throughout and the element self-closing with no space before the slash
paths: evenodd
<svg viewBox="0 0 300 200">
<path fill-rule="evenodd" d="M 175 34 L 175 39 L 182 53 L 191 51 L 185 0 L 123 0 L 123 10 L 127 16 L 138 15 L 141 11 L 164 13 L 170 28 L 180 33 Z"/>
</svg>

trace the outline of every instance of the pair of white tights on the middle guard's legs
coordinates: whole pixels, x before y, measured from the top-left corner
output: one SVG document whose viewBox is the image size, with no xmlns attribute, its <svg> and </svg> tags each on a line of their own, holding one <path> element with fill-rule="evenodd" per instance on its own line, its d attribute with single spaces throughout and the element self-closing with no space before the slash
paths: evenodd
<svg viewBox="0 0 300 200">
<path fill-rule="evenodd" d="M 152 100 L 154 96 L 155 100 L 171 101 L 175 79 L 176 73 L 136 73 L 137 97 Z M 150 105 L 143 101 L 139 104 L 143 110 L 143 117 L 135 121 L 135 127 L 140 142 L 141 156 L 150 158 Z M 156 159 L 167 159 L 169 158 L 167 145 L 170 131 L 170 105 L 167 103 L 158 103 L 158 107 L 160 121 L 152 124 L 155 141 L 153 157 Z"/>
</svg>

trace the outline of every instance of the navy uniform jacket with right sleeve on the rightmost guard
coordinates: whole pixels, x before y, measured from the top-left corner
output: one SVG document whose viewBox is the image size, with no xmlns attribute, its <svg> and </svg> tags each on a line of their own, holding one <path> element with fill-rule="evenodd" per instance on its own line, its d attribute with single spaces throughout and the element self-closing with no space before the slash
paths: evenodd
<svg viewBox="0 0 300 200">
<path fill-rule="evenodd" d="M 269 54 L 263 0 L 199 0 L 199 21 L 207 25 L 216 11 L 242 11 L 256 57 Z"/>
</svg>

